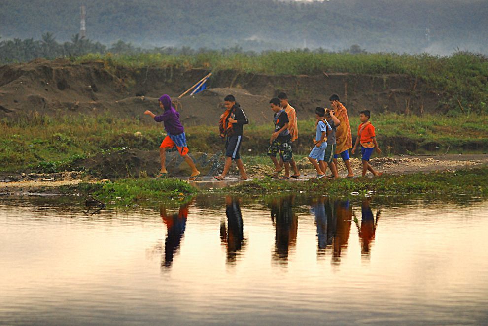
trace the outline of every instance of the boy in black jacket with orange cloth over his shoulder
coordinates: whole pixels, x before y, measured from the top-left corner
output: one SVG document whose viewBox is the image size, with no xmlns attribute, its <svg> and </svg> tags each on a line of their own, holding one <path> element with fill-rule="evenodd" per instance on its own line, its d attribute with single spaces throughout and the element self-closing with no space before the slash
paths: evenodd
<svg viewBox="0 0 488 326">
<path fill-rule="evenodd" d="M 225 142 L 225 165 L 224 171 L 214 178 L 222 181 L 225 179 L 227 172 L 232 165 L 232 160 L 236 161 L 239 172 L 241 173 L 241 180 L 246 180 L 247 175 L 244 170 L 244 164 L 239 155 L 239 150 L 241 149 L 242 138 L 243 138 L 243 126 L 248 124 L 244 110 L 241 108 L 239 103 L 236 103 L 236 98 L 234 95 L 227 95 L 224 98 L 225 112 L 220 116 L 220 136 L 226 137 Z"/>
</svg>

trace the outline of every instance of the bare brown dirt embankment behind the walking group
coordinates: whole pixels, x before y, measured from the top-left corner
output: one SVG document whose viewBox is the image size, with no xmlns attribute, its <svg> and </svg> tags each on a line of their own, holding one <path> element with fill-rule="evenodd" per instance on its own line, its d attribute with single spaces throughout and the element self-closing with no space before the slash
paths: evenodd
<svg viewBox="0 0 488 326">
<path fill-rule="evenodd" d="M 15 119 L 36 111 L 48 115 L 110 112 L 118 117 L 140 117 L 157 109 L 164 93 L 174 98 L 205 76 L 201 69 L 106 66 L 104 62 L 72 64 L 64 59 L 37 59 L 0 67 L 0 119 Z M 337 93 L 351 114 L 375 112 L 442 111 L 442 91 L 407 75 L 323 73 L 313 76 L 270 76 L 216 71 L 208 89 L 185 96 L 177 104 L 185 125 L 215 124 L 223 97 L 236 95 L 253 123 L 269 122 L 269 99 L 288 94 L 299 119 L 313 116 L 316 106 Z"/>
</svg>

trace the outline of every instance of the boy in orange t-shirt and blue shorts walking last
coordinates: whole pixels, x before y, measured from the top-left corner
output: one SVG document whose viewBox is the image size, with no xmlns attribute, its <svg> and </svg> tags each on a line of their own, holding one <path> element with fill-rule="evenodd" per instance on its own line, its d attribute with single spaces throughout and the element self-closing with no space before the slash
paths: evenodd
<svg viewBox="0 0 488 326">
<path fill-rule="evenodd" d="M 369 110 L 364 110 L 359 113 L 359 120 L 361 120 L 361 124 L 357 128 L 356 143 L 354 144 L 354 147 L 352 147 L 352 154 L 354 154 L 359 142 L 361 142 L 363 177 L 366 175 L 368 170 L 371 171 L 371 173 L 376 177 L 379 177 L 382 174 L 376 172 L 369 164 L 369 158 L 371 157 L 371 154 L 375 148 L 378 154 L 381 153 L 381 149 L 376 141 L 375 127 L 371 124 L 371 122 L 369 122 L 370 117 L 371 112 Z"/>
</svg>

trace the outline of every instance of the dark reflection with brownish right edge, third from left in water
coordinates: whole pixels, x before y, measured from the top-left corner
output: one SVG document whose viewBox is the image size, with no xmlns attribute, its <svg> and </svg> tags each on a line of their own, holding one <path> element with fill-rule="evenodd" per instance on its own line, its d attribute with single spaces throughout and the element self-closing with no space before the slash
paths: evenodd
<svg viewBox="0 0 488 326">
<path fill-rule="evenodd" d="M 275 252 L 273 260 L 280 263 L 288 261 L 288 252 L 297 241 L 298 218 L 293 213 L 294 196 L 273 198 L 269 205 L 271 220 L 276 228 Z"/>
</svg>

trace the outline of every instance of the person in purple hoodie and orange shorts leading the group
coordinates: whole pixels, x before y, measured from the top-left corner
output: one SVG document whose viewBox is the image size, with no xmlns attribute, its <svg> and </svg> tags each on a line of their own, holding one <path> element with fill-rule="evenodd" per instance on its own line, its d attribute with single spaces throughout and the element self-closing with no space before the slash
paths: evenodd
<svg viewBox="0 0 488 326">
<path fill-rule="evenodd" d="M 161 171 L 159 172 L 156 178 L 164 178 L 168 175 L 168 171 L 166 171 L 166 149 L 167 148 L 176 148 L 178 149 L 179 154 L 186 163 L 190 166 L 192 173 L 190 176 L 190 181 L 195 181 L 200 172 L 197 170 L 195 163 L 188 156 L 188 147 L 186 146 L 186 136 L 185 136 L 185 129 L 181 125 L 179 121 L 179 112 L 174 109 L 171 105 L 171 98 L 168 95 L 163 95 L 159 98 L 159 107 L 164 110 L 164 113 L 160 116 L 156 116 L 149 110 L 144 112 L 145 115 L 151 116 L 156 122 L 164 122 L 164 129 L 167 132 L 166 138 L 161 143 L 159 147 L 159 156 L 161 157 Z"/>
</svg>

